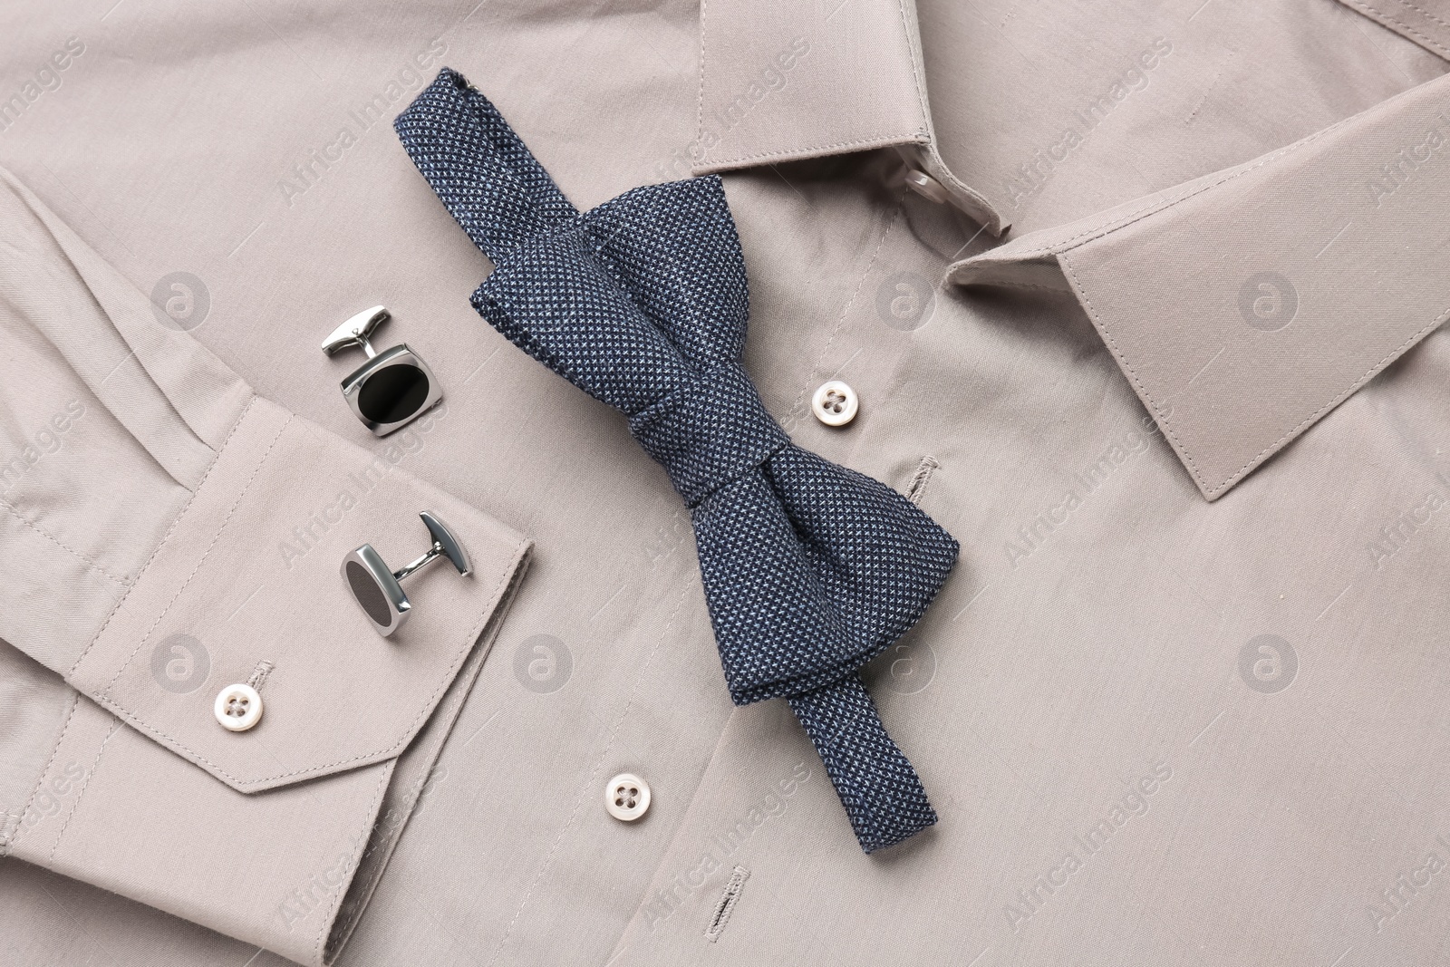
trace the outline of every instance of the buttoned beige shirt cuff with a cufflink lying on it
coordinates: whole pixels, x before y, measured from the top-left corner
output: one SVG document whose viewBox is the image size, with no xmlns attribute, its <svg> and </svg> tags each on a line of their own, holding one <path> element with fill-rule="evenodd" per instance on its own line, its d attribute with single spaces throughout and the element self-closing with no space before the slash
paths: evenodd
<svg viewBox="0 0 1450 967">
<path fill-rule="evenodd" d="M 410 618 L 383 638 L 338 564 L 364 542 L 406 563 L 429 541 L 419 510 L 448 522 L 473 571 L 410 578 Z M 325 963 L 381 873 L 528 547 L 254 397 L 67 674 L 80 694 L 36 789 L 64 787 L 70 803 L 25 810 L 10 854 Z M 213 700 L 248 681 L 264 712 L 232 732 Z M 370 881 L 354 883 L 360 866 Z"/>
</svg>

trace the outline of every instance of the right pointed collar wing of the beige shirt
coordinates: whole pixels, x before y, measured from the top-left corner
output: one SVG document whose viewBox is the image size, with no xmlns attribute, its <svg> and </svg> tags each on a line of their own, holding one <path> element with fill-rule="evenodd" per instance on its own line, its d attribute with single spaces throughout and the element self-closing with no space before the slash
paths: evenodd
<svg viewBox="0 0 1450 967">
<path fill-rule="evenodd" d="M 947 277 L 1074 293 L 1214 500 L 1446 320 L 1447 103 L 1450 75 Z"/>
</svg>

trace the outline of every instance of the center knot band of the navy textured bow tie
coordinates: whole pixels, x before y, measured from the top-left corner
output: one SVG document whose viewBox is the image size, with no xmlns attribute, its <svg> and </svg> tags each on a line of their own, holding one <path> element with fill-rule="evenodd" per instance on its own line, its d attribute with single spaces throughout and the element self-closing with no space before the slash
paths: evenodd
<svg viewBox="0 0 1450 967">
<path fill-rule="evenodd" d="M 735 362 L 716 365 L 629 418 L 645 452 L 695 509 L 790 442 Z"/>
</svg>

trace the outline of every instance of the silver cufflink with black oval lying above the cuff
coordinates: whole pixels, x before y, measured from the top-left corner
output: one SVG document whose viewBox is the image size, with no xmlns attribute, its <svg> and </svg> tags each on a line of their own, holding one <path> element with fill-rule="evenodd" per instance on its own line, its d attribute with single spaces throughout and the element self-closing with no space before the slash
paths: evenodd
<svg viewBox="0 0 1450 967">
<path fill-rule="evenodd" d="M 387 320 L 387 309 L 373 306 L 322 341 L 322 351 L 328 355 L 349 346 L 361 346 L 367 352 L 367 362 L 342 380 L 342 399 L 377 436 L 405 426 L 444 397 L 434 371 L 406 344 L 381 352 L 373 349 L 368 336 Z"/>
</svg>

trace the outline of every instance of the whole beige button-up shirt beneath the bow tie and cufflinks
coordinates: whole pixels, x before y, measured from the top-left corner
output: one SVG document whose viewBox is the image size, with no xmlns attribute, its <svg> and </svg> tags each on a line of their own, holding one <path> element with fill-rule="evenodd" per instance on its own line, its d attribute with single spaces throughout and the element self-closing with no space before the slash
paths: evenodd
<svg viewBox="0 0 1450 967">
<path fill-rule="evenodd" d="M 1447 955 L 1444 0 L 100 0 L 0 45 L 0 963 Z M 731 706 L 663 468 L 470 309 L 390 130 L 444 64 L 580 207 L 724 173 L 767 407 L 961 541 L 867 674 L 931 831 L 861 854 Z M 318 349 L 377 303 L 444 390 L 384 439 Z M 423 509 L 474 573 L 383 639 L 338 564 Z"/>
</svg>

